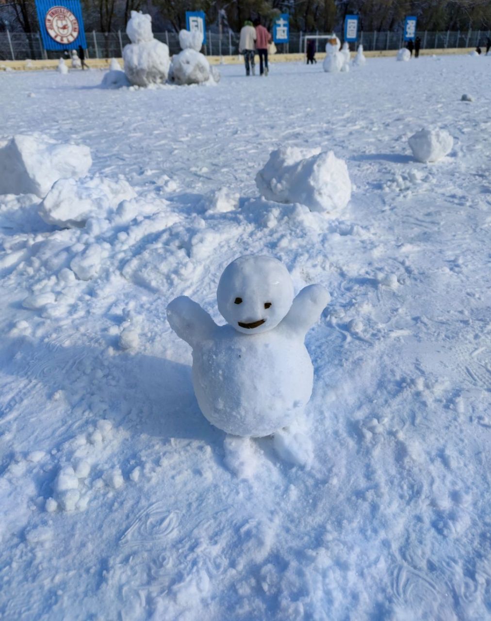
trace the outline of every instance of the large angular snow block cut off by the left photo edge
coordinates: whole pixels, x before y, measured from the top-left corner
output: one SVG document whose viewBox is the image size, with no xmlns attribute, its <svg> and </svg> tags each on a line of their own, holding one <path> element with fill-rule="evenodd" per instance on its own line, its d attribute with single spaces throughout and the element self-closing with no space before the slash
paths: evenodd
<svg viewBox="0 0 491 621">
<path fill-rule="evenodd" d="M 0 194 L 43 198 L 58 179 L 87 175 L 91 151 L 42 134 L 19 134 L 0 144 Z"/>
</svg>

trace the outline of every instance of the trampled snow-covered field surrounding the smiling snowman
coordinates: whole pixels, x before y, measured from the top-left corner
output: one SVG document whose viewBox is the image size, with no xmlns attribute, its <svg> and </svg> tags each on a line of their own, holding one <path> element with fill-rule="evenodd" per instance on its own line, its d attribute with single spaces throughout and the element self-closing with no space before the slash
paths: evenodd
<svg viewBox="0 0 491 621">
<path fill-rule="evenodd" d="M 491 57 L 244 73 L 0 73 L 5 137 L 87 145 L 136 195 L 74 229 L 0 196 L 0 617 L 488 619 Z M 258 197 L 278 147 L 345 160 L 345 211 Z M 246 253 L 331 294 L 296 445 L 212 427 L 166 320 L 184 294 L 220 322 Z"/>
</svg>

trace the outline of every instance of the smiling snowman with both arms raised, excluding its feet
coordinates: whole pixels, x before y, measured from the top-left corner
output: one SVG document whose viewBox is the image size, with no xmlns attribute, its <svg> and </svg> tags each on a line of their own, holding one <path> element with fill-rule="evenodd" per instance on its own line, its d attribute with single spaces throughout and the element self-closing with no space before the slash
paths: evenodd
<svg viewBox="0 0 491 621">
<path fill-rule="evenodd" d="M 218 283 L 218 326 L 189 297 L 167 307 L 171 328 L 192 347 L 192 383 L 204 416 L 227 433 L 270 435 L 302 414 L 313 367 L 304 339 L 330 300 L 320 284 L 294 299 L 286 267 L 269 256 L 241 256 Z"/>
</svg>

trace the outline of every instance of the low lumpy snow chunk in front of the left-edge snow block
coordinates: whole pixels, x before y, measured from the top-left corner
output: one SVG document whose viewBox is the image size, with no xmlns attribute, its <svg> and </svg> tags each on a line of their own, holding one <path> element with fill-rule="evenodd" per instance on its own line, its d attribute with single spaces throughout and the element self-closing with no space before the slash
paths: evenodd
<svg viewBox="0 0 491 621">
<path fill-rule="evenodd" d="M 125 179 L 112 181 L 100 176 L 60 179 L 41 203 L 39 215 L 48 224 L 63 229 L 80 228 L 89 218 L 106 218 L 121 201 L 135 196 Z"/>
</svg>

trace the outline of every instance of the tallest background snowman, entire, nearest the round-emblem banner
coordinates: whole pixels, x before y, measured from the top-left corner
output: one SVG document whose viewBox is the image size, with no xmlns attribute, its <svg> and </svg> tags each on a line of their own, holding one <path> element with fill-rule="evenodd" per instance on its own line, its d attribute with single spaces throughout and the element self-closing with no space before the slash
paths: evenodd
<svg viewBox="0 0 491 621">
<path fill-rule="evenodd" d="M 124 70 L 134 86 L 149 86 L 166 81 L 169 73 L 169 48 L 153 38 L 151 16 L 132 11 L 126 32 L 132 43 L 123 50 Z"/>
</svg>

